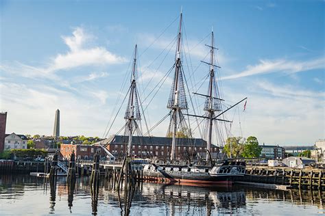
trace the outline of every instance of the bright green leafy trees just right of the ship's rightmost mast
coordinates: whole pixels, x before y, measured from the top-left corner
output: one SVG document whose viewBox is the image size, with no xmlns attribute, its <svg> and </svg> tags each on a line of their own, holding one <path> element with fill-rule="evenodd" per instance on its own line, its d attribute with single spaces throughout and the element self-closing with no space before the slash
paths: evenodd
<svg viewBox="0 0 325 216">
<path fill-rule="evenodd" d="M 224 146 L 224 153 L 232 158 L 260 157 L 262 147 L 258 146 L 256 137 L 250 136 L 245 141 L 242 137 L 228 137 Z"/>
</svg>

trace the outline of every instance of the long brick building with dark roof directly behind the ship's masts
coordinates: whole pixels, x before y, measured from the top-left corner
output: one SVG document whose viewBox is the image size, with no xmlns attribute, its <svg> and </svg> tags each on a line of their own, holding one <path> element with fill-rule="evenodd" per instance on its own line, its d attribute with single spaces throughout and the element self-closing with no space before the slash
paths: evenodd
<svg viewBox="0 0 325 216">
<path fill-rule="evenodd" d="M 115 157 L 123 157 L 127 152 L 128 137 L 113 135 L 108 139 L 97 142 L 106 146 Z M 171 137 L 132 137 L 132 156 L 136 158 L 169 158 L 171 153 Z M 211 155 L 219 152 L 219 147 L 211 146 Z M 185 159 L 189 155 L 193 157 L 200 154 L 200 157 L 206 155 L 206 141 L 204 139 L 176 139 L 176 157 Z"/>
</svg>

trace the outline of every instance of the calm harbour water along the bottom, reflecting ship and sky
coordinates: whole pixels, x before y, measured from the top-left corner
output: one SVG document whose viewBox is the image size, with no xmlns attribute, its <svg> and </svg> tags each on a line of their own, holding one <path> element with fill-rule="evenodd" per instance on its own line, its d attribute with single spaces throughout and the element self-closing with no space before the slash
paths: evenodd
<svg viewBox="0 0 325 216">
<path fill-rule="evenodd" d="M 56 184 L 33 176 L 0 176 L 1 215 L 310 215 L 325 213 L 324 191 L 288 191 L 254 187 L 194 187 L 193 185 L 136 185 L 131 202 L 125 191 L 88 178 L 75 187 L 65 178 Z M 127 193 L 128 194 L 128 193 Z M 129 193 L 130 194 L 130 193 Z M 124 203 L 125 202 L 125 203 Z M 125 205 L 126 204 L 126 205 Z M 14 206 L 13 206 L 14 205 Z"/>
</svg>

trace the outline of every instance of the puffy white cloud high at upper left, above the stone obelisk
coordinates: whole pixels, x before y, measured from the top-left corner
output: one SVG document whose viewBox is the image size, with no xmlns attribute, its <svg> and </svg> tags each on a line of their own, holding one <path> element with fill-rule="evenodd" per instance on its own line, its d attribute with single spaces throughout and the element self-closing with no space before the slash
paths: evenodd
<svg viewBox="0 0 325 216">
<path fill-rule="evenodd" d="M 103 66 L 107 64 L 121 64 L 125 62 L 124 57 L 120 57 L 103 46 L 91 46 L 89 43 L 94 38 L 91 33 L 87 33 L 82 27 L 73 30 L 72 36 L 63 36 L 64 43 L 69 47 L 67 53 L 60 53 L 47 62 L 45 66 L 29 66 L 20 62 L 1 64 L 0 69 L 21 77 L 47 78 L 60 80 L 55 75 L 58 70 L 69 70 L 80 66 Z"/>
</svg>

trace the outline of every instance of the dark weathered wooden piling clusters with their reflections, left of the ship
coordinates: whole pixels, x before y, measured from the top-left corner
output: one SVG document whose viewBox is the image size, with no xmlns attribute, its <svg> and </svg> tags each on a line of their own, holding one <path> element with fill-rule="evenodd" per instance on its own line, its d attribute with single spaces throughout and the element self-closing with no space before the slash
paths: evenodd
<svg viewBox="0 0 325 216">
<path fill-rule="evenodd" d="M 67 186 L 68 186 L 68 202 L 69 208 L 73 202 L 73 191 L 75 189 L 76 177 L 80 175 L 90 176 L 89 182 L 91 187 L 91 199 L 92 199 L 92 211 L 93 215 L 97 215 L 98 205 L 98 193 L 99 193 L 99 181 L 104 178 L 109 188 L 113 191 L 117 191 L 119 198 L 119 207 L 121 208 L 121 215 L 130 215 L 130 208 L 132 199 L 134 197 L 134 191 L 136 188 L 142 186 L 143 172 L 142 170 L 134 170 L 132 168 L 131 158 L 126 156 L 123 159 L 122 167 L 120 169 L 104 169 L 101 170 L 99 166 L 100 154 L 96 152 L 94 155 L 93 165 L 89 169 L 78 167 L 75 162 L 74 152 L 71 154 L 69 161 L 69 168 L 67 172 Z M 55 154 L 49 170 L 49 183 L 51 186 L 51 194 L 56 192 L 56 179 L 58 176 L 58 154 Z M 89 175 L 90 174 L 90 175 Z M 102 177 L 101 177 L 102 176 Z M 51 195 L 51 205 L 55 204 L 55 195 Z"/>
</svg>

